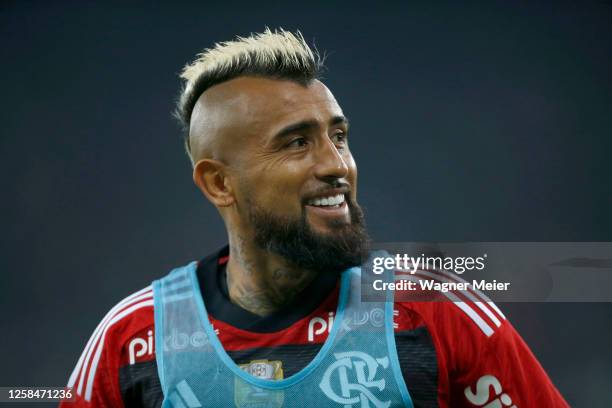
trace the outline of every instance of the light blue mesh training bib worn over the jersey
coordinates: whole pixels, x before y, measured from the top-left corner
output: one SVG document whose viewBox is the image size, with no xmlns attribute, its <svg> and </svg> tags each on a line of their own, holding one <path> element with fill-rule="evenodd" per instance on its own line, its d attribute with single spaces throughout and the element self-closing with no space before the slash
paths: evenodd
<svg viewBox="0 0 612 408">
<path fill-rule="evenodd" d="M 162 407 L 413 407 L 395 348 L 393 301 L 361 302 L 360 268 L 342 273 L 319 353 L 280 380 L 267 379 L 265 363 L 247 372 L 228 356 L 208 320 L 196 268 L 193 262 L 153 283 Z"/>
</svg>

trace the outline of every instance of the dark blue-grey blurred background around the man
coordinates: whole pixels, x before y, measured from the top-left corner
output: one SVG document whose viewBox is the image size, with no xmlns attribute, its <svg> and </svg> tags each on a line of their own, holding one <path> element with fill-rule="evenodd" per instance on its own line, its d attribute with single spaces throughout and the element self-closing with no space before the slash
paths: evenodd
<svg viewBox="0 0 612 408">
<path fill-rule="evenodd" d="M 0 4 L 0 385 L 64 385 L 118 300 L 225 242 L 171 118 L 215 41 L 300 29 L 377 241 L 612 241 L 612 4 Z M 502 308 L 612 406 L 612 305 Z"/>
</svg>

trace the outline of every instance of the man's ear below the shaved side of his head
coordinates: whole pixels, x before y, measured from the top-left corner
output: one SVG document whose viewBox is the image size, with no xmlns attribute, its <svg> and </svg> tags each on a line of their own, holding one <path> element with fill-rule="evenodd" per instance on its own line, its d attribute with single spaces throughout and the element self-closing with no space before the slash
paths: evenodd
<svg viewBox="0 0 612 408">
<path fill-rule="evenodd" d="M 218 160 L 197 162 L 193 167 L 193 182 L 216 207 L 228 207 L 236 201 L 227 167 Z"/>
</svg>

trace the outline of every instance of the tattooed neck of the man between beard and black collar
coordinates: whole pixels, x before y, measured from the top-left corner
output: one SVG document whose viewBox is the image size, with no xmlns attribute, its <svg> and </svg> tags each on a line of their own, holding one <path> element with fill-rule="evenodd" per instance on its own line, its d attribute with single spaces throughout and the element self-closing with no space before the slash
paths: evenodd
<svg viewBox="0 0 612 408">
<path fill-rule="evenodd" d="M 232 303 L 258 316 L 269 316 L 295 300 L 315 278 L 278 255 L 255 247 L 240 235 L 230 237 L 227 288 Z"/>
</svg>

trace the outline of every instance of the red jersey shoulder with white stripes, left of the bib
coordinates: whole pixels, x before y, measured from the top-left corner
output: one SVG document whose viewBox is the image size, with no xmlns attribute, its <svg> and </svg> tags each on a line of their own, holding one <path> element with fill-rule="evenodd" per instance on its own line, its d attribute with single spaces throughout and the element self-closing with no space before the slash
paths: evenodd
<svg viewBox="0 0 612 408">
<path fill-rule="evenodd" d="M 68 387 L 74 389 L 77 400 L 91 401 L 94 395 L 95 398 L 100 398 L 100 395 L 120 398 L 118 372 L 126 363 L 124 360 L 130 358 L 129 344 L 141 333 L 152 331 L 153 324 L 151 286 L 113 306 L 87 341 L 68 381 Z M 105 402 L 112 403 L 113 400 Z"/>
</svg>

